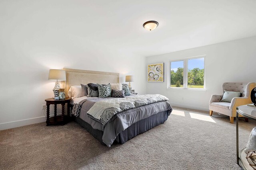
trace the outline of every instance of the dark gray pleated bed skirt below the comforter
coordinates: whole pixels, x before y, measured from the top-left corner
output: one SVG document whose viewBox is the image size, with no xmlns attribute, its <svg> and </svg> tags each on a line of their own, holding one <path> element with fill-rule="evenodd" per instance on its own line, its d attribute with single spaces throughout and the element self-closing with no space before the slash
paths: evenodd
<svg viewBox="0 0 256 170">
<path fill-rule="evenodd" d="M 169 111 L 161 111 L 130 125 L 127 129 L 119 133 L 114 143 L 124 144 L 126 143 L 126 141 L 132 139 L 138 134 L 144 133 L 149 129 L 152 129 L 153 127 L 163 124 L 164 121 L 168 119 L 168 112 Z M 82 127 L 84 127 L 88 132 L 90 132 L 93 137 L 98 139 L 98 141 L 100 141 L 102 145 L 105 145 L 102 141 L 103 131 L 93 129 L 89 123 L 83 121 L 82 119 L 80 119 L 80 117 L 74 117 L 74 120 Z"/>
</svg>

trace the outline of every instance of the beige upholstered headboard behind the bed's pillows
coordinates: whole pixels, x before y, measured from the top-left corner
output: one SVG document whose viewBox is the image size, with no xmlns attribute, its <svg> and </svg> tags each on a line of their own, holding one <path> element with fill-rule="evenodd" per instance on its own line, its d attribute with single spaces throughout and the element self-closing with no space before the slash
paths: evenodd
<svg viewBox="0 0 256 170">
<path fill-rule="evenodd" d="M 66 81 L 63 81 L 66 96 L 68 96 L 68 90 L 70 87 L 75 85 L 80 86 L 80 84 L 88 83 L 119 83 L 119 73 L 75 70 L 68 68 L 63 68 L 63 70 L 66 71 Z"/>
</svg>

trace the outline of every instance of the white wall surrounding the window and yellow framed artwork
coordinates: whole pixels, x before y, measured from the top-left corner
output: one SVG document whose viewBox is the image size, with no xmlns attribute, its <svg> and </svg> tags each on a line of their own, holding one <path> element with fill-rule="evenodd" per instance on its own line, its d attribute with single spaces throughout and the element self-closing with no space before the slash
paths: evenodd
<svg viewBox="0 0 256 170">
<path fill-rule="evenodd" d="M 167 89 L 168 61 L 198 55 L 206 55 L 206 90 Z M 256 82 L 256 37 L 146 59 L 147 64 L 161 62 L 164 62 L 164 82 L 147 82 L 146 93 L 167 96 L 172 106 L 208 111 L 211 95 L 222 94 L 223 82 Z"/>
</svg>

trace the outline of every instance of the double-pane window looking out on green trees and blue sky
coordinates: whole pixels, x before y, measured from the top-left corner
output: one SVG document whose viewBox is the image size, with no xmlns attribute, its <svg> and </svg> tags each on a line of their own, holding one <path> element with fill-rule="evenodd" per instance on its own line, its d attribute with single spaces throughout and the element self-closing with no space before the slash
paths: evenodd
<svg viewBox="0 0 256 170">
<path fill-rule="evenodd" d="M 168 88 L 205 89 L 204 57 L 170 61 Z"/>
</svg>

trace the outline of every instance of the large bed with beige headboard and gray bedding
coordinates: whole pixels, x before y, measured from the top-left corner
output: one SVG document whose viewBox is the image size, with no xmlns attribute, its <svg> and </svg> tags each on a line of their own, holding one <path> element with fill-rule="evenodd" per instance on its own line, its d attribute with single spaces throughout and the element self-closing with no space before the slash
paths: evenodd
<svg viewBox="0 0 256 170">
<path fill-rule="evenodd" d="M 66 81 L 63 82 L 66 95 L 71 86 L 88 84 L 88 83 L 119 83 L 119 73 L 110 72 L 95 72 L 86 70 L 74 70 L 64 68 L 66 71 Z M 102 123 L 98 119 L 95 119 L 92 115 L 87 113 L 94 105 L 101 102 L 119 101 L 120 98 L 88 98 L 86 96 L 72 98 L 72 104 L 81 104 L 80 113 L 78 117 L 74 117 L 74 120 L 84 127 L 88 132 L 92 134 L 100 143 L 110 147 L 113 143 L 124 144 L 126 141 L 132 139 L 140 133 L 144 133 L 153 127 L 156 127 L 168 119 L 172 111 L 168 99 L 164 100 L 164 97 L 155 95 L 156 98 L 161 100 L 155 100 L 148 102 L 146 105 L 138 105 L 137 107 L 130 107 L 130 109 L 124 109 L 112 116 L 109 116 L 106 123 Z M 138 101 L 138 99 L 154 98 L 153 95 L 134 95 L 125 96 L 122 100 Z M 120 99 L 121 100 L 121 99 Z M 73 108 L 74 109 L 74 108 Z"/>
</svg>

